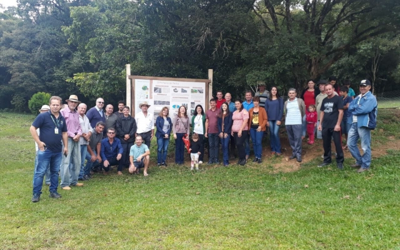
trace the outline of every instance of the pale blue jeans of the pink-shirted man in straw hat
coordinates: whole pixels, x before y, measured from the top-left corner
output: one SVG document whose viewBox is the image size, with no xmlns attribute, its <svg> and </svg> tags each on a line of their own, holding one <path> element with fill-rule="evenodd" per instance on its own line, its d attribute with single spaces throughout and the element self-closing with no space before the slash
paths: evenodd
<svg viewBox="0 0 400 250">
<path fill-rule="evenodd" d="M 68 154 L 62 155 L 60 166 L 61 187 L 76 185 L 80 171 L 80 144 L 68 137 Z"/>
</svg>

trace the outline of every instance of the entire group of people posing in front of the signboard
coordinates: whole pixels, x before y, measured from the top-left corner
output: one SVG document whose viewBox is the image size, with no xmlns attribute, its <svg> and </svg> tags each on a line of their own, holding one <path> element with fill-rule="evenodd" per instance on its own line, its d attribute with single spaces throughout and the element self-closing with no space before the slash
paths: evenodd
<svg viewBox="0 0 400 250">
<path fill-rule="evenodd" d="M 177 110 L 171 120 L 168 107 L 163 107 L 156 120 L 157 164 L 166 166 L 166 156 L 170 133 L 175 139 L 175 163 L 183 164 L 184 140 L 190 140 L 188 148 L 191 170 L 198 170 L 204 160 L 204 141 L 208 139 L 208 164 L 220 164 L 219 146 L 222 150 L 222 164 L 238 154 L 237 164 L 246 164 L 250 155 L 251 138 L 254 159 L 262 162 L 261 140 L 269 130 L 271 155 L 281 155 L 279 126 L 283 114 L 287 137 L 292 149 L 290 159 L 301 162 L 301 143 L 308 134 L 308 143 L 314 143 L 314 134 L 323 140 L 323 162 L 319 167 L 331 163 L 331 139 L 335 144 L 338 168 L 343 168 L 343 149 L 348 147 L 356 163 L 351 167 L 357 172 L 369 169 L 370 130 L 376 126 L 377 102 L 369 91 L 369 80 L 359 84 L 360 94 L 355 96 L 345 80 L 338 87 L 336 78 L 307 82 L 307 88 L 297 97 L 296 89 L 288 90 L 288 99 L 283 103 L 276 86 L 266 90 L 265 83 L 259 84 L 259 91 L 252 96 L 245 92 L 245 99 L 231 101 L 231 94 L 217 91 L 216 98 L 209 100 L 209 109 L 195 106 L 191 126 L 184 105 Z M 340 94 L 340 96 L 339 96 Z M 224 98 L 223 98 L 224 97 Z M 60 187 L 70 190 L 70 186 L 82 186 L 78 180 L 91 178 L 92 172 L 107 174 L 110 166 L 117 166 L 117 174 L 123 168 L 130 173 L 148 175 L 150 162 L 150 142 L 154 136 L 153 115 L 147 111 L 147 102 L 139 104 L 140 112 L 132 117 L 129 107 L 118 102 L 118 110 L 108 104 L 103 111 L 104 100 L 97 98 L 96 105 L 87 113 L 86 105 L 78 101 L 76 95 L 66 100 L 67 106 L 61 109 L 62 100 L 52 96 L 49 106 L 43 105 L 41 113 L 33 121 L 30 132 L 35 140 L 36 158 L 33 176 L 32 202 L 39 201 L 43 177 L 49 185 L 49 196 L 61 197 L 57 193 L 58 170 Z M 341 133 L 346 134 L 347 145 L 341 144 Z M 357 147 L 361 139 L 363 155 Z M 85 162 L 86 161 L 86 162 Z"/>
</svg>

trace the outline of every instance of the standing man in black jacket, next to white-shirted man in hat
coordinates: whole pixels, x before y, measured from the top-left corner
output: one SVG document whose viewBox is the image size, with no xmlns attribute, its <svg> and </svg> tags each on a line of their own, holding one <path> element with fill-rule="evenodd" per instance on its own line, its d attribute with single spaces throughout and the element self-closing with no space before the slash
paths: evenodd
<svg viewBox="0 0 400 250">
<path fill-rule="evenodd" d="M 129 107 L 124 106 L 123 115 L 118 117 L 116 121 L 116 136 L 121 141 L 122 157 L 118 164 L 118 175 L 122 175 L 124 166 L 129 166 L 129 150 L 133 145 L 136 133 L 136 121 L 129 115 Z"/>
</svg>

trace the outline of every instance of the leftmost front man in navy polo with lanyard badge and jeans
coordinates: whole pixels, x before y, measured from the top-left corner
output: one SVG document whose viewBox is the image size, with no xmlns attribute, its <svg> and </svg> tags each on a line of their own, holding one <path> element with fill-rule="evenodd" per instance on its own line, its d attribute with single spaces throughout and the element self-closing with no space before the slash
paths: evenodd
<svg viewBox="0 0 400 250">
<path fill-rule="evenodd" d="M 58 96 L 51 96 L 49 101 L 50 110 L 40 113 L 29 128 L 30 134 L 37 143 L 37 165 L 33 176 L 33 195 L 32 202 L 40 199 L 41 185 L 46 168 L 50 165 L 50 187 L 49 196 L 51 198 L 60 198 L 57 193 L 58 171 L 61 162 L 62 153 L 68 153 L 68 135 L 65 119 L 60 115 L 62 99 Z M 37 135 L 36 129 L 40 128 L 40 135 Z M 61 139 L 64 144 L 62 148 Z"/>
</svg>

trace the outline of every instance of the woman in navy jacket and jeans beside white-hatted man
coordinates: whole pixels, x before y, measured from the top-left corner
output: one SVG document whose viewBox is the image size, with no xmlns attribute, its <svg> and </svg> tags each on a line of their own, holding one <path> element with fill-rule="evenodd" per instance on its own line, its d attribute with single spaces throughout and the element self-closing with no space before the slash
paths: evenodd
<svg viewBox="0 0 400 250">
<path fill-rule="evenodd" d="M 166 166 L 165 159 L 166 153 L 168 152 L 169 145 L 169 134 L 172 129 L 171 118 L 168 117 L 169 110 L 168 107 L 163 107 L 159 112 L 157 119 L 155 120 L 155 125 L 157 131 L 155 132 L 155 137 L 157 138 L 157 164 Z"/>
</svg>

